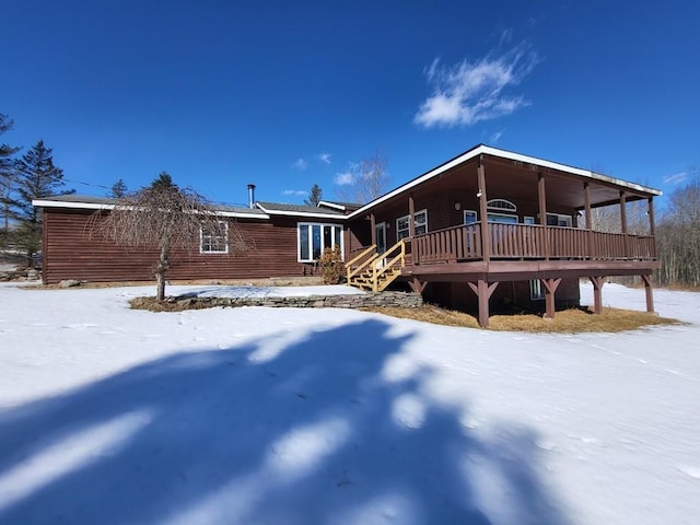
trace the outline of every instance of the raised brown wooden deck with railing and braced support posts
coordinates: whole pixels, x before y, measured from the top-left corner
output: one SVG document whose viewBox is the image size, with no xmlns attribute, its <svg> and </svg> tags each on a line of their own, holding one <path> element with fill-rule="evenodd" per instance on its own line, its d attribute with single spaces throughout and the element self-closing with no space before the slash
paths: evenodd
<svg viewBox="0 0 700 525">
<path fill-rule="evenodd" d="M 546 316 L 555 315 L 562 279 L 587 278 L 594 311 L 602 313 L 600 290 L 609 276 L 641 276 L 646 310 L 653 312 L 651 273 L 658 268 L 654 236 L 604 233 L 575 228 L 489 223 L 446 228 L 407 243 L 400 278 L 416 292 L 429 282 L 466 282 L 477 294 L 479 324 L 488 326 L 488 301 L 499 282 L 540 280 Z"/>
</svg>

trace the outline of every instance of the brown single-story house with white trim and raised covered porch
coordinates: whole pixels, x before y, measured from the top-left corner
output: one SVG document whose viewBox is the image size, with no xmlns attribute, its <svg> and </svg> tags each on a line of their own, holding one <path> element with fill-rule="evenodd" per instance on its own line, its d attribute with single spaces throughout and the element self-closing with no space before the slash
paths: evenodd
<svg viewBox="0 0 700 525">
<path fill-rule="evenodd" d="M 581 278 L 591 279 L 595 312 L 608 276 L 641 276 L 653 311 L 651 275 L 658 268 L 653 198 L 634 183 L 479 144 L 364 206 L 318 207 L 255 202 L 221 208 L 252 249 L 202 243 L 198 254 L 174 254 L 171 279 L 288 277 L 315 271 L 325 247 L 340 246 L 350 283 L 372 290 L 404 283 L 456 307 L 511 303 L 578 305 Z M 646 202 L 649 231 L 628 233 L 627 208 Z M 45 282 L 145 280 L 154 254 L 93 238 L 89 219 L 108 199 L 62 196 L 34 202 L 44 210 Z M 591 229 L 592 210 L 615 205 L 620 233 Z M 203 237 L 202 237 L 203 238 Z M 176 261 L 176 262 L 175 262 Z"/>
</svg>

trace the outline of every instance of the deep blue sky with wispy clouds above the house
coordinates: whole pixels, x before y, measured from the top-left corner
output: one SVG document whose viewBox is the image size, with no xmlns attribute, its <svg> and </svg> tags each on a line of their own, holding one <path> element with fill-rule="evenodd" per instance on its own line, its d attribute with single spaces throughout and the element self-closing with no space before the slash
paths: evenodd
<svg viewBox="0 0 700 525">
<path fill-rule="evenodd" d="M 392 187 L 472 145 L 668 192 L 700 170 L 696 1 L 2 0 L 0 140 L 105 195 L 167 171 L 220 202 Z M 488 5 L 486 5 L 488 3 Z"/>
</svg>

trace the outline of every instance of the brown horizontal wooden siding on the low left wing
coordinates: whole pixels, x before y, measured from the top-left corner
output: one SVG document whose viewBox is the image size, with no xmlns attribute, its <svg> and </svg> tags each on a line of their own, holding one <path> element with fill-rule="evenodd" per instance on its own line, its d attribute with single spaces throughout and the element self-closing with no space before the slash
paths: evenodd
<svg viewBox="0 0 700 525">
<path fill-rule="evenodd" d="M 158 250 L 124 248 L 91 233 L 91 211 L 44 210 L 44 280 L 141 281 L 153 278 Z M 168 279 L 260 279 L 313 275 L 314 265 L 298 261 L 296 224 L 307 219 L 273 217 L 235 222 L 250 248 L 238 254 L 189 253 L 171 255 Z M 323 220 L 319 222 L 329 222 Z M 233 228 L 233 226 L 232 226 Z M 357 238 L 345 233 L 346 246 Z M 198 243 L 198 241 L 197 241 Z"/>
</svg>

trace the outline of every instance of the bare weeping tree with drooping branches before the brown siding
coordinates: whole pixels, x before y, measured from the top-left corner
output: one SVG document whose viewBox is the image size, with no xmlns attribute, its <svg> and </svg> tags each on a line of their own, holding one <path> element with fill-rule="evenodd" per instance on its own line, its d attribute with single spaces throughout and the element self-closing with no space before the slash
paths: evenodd
<svg viewBox="0 0 700 525">
<path fill-rule="evenodd" d="M 206 242 L 233 254 L 247 247 L 235 223 L 223 221 L 207 199 L 179 188 L 165 172 L 150 186 L 117 199 L 113 210 L 93 214 L 90 230 L 121 246 L 159 249 L 153 268 L 158 301 L 165 299 L 165 272 L 173 248 L 191 253 Z"/>
</svg>

